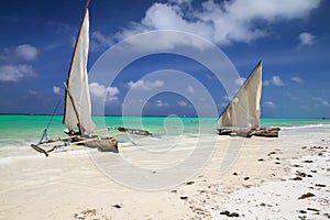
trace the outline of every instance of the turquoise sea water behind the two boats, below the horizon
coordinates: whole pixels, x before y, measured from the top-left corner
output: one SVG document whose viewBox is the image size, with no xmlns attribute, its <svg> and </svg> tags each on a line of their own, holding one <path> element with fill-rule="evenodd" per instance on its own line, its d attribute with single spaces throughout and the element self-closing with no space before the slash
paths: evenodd
<svg viewBox="0 0 330 220">
<path fill-rule="evenodd" d="M 13 155 L 35 154 L 30 144 L 40 141 L 44 129 L 48 127 L 48 139 L 65 136 L 63 116 L 0 114 L 0 158 Z M 125 127 L 144 129 L 154 138 L 162 136 L 198 136 L 217 133 L 217 118 L 178 118 L 169 117 L 94 117 L 96 130 L 106 127 Z M 330 127 L 330 119 L 262 119 L 262 125 L 280 127 L 282 130 L 312 127 Z M 116 133 L 116 130 L 112 131 Z M 118 132 L 117 132 L 118 133 Z M 121 143 L 128 142 L 124 135 Z M 26 151 L 25 151 L 26 150 Z M 28 151 L 29 150 L 29 151 Z"/>
</svg>

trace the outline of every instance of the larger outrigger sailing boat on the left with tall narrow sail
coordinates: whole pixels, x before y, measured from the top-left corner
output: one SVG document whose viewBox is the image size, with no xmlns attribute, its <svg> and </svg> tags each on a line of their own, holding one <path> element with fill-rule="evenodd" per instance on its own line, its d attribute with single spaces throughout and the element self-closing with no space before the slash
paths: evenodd
<svg viewBox="0 0 330 220">
<path fill-rule="evenodd" d="M 79 32 L 76 38 L 74 53 L 72 56 L 70 67 L 65 84 L 65 109 L 63 123 L 66 125 L 65 133 L 69 136 L 58 138 L 56 140 L 47 140 L 47 129 L 45 129 L 41 141 L 31 146 L 48 156 L 48 153 L 59 146 L 66 145 L 85 145 L 88 147 L 97 147 L 100 151 L 118 153 L 118 141 L 113 135 L 99 136 L 96 134 L 95 124 L 91 120 L 91 106 L 87 75 L 87 61 L 89 48 L 89 14 L 87 0 L 84 16 L 80 23 Z M 107 128 L 106 130 L 116 129 L 125 133 L 140 135 L 151 135 L 145 130 L 134 130 L 124 128 Z M 75 131 L 78 130 L 78 131 Z M 46 140 L 44 138 L 46 136 Z M 43 144 L 62 142 L 53 148 L 45 151 L 41 146 Z"/>
</svg>

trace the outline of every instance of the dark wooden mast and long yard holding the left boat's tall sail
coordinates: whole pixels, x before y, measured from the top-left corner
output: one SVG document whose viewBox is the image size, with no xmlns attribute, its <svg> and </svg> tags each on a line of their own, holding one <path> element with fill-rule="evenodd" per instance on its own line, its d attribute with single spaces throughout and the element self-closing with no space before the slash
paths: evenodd
<svg viewBox="0 0 330 220">
<path fill-rule="evenodd" d="M 80 25 L 79 25 L 79 31 L 78 31 L 78 34 L 77 34 L 77 37 L 76 37 L 76 42 L 75 42 L 75 47 L 74 47 L 74 53 L 73 53 L 73 56 L 72 56 L 72 61 L 70 61 L 70 66 L 69 66 L 69 70 L 68 70 L 68 76 L 67 76 L 67 79 L 66 79 L 66 82 L 65 82 L 65 100 L 64 100 L 64 117 L 63 117 L 63 123 L 65 123 L 65 114 L 66 114 L 66 105 L 67 105 L 67 97 L 70 98 L 70 101 L 74 106 L 74 109 L 75 109 L 75 113 L 77 116 L 77 120 L 80 124 L 80 119 L 79 119 L 79 116 L 78 116 L 78 112 L 76 110 L 76 105 L 69 94 L 69 78 L 70 78 L 70 73 L 72 73 L 72 68 L 73 68 L 73 63 L 74 63 L 74 59 L 75 59 L 75 55 L 76 55 L 76 51 L 77 51 L 77 45 L 78 45 L 78 41 L 79 41 L 79 36 L 80 36 L 80 33 L 81 33 L 81 26 L 84 24 L 84 20 L 85 20 L 85 16 L 86 16 L 86 13 L 88 11 L 88 6 L 90 3 L 91 0 L 87 0 L 86 1 L 86 4 L 85 4 L 85 10 L 84 10 L 84 14 L 82 14 L 82 18 L 81 18 L 81 21 L 80 21 Z M 81 128 L 79 128 L 81 129 Z"/>
</svg>

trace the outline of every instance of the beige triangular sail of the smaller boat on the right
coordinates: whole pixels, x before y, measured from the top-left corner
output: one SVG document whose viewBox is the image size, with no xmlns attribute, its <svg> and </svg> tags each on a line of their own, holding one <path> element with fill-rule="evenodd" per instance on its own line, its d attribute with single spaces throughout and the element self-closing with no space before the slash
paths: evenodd
<svg viewBox="0 0 330 220">
<path fill-rule="evenodd" d="M 218 129 L 257 129 L 262 95 L 262 63 L 260 62 L 218 119 Z"/>
</svg>

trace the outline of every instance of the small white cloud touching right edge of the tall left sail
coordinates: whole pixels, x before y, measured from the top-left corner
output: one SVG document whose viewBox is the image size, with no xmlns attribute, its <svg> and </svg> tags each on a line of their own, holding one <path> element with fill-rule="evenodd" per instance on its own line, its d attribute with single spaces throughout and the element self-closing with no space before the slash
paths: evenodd
<svg viewBox="0 0 330 220">
<path fill-rule="evenodd" d="M 91 82 L 89 84 L 89 91 L 91 98 L 99 99 L 107 97 L 107 101 L 118 100 L 116 95 L 119 94 L 119 89 L 117 87 L 105 87 L 98 82 Z"/>
</svg>

